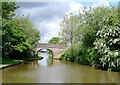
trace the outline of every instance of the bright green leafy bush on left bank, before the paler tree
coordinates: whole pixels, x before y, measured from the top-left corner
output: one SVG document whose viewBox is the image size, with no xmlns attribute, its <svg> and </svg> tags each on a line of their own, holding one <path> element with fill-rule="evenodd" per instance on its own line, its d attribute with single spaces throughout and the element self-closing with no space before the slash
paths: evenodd
<svg viewBox="0 0 120 85">
<path fill-rule="evenodd" d="M 12 19 L 3 20 L 2 23 L 3 54 L 9 54 L 12 50 L 19 50 L 20 52 L 26 50 L 29 44 L 25 40 L 24 30 L 18 26 L 19 22 Z"/>
</svg>

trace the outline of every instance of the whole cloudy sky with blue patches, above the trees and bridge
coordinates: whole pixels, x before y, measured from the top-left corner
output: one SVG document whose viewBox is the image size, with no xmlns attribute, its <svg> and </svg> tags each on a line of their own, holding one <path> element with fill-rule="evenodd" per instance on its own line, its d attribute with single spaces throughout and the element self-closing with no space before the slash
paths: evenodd
<svg viewBox="0 0 120 85">
<path fill-rule="evenodd" d="M 26 0 L 26 2 L 17 1 L 16 3 L 22 4 L 16 13 L 29 15 L 29 19 L 40 31 L 41 40 L 39 42 L 48 43 L 52 37 L 59 37 L 60 23 L 67 13 L 78 12 L 84 6 L 95 8 L 102 5 L 118 5 L 118 0 L 64 0 L 61 2 Z"/>
</svg>

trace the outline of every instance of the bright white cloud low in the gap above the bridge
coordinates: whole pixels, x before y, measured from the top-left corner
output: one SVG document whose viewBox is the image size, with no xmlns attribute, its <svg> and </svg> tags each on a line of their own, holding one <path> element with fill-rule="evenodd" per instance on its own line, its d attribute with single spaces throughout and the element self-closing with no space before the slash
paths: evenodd
<svg viewBox="0 0 120 85">
<path fill-rule="evenodd" d="M 40 36 L 42 37 L 40 42 L 48 42 L 52 37 L 57 37 L 58 32 L 60 30 L 60 21 L 61 18 L 59 17 L 54 17 L 52 20 L 44 20 L 40 22 L 39 27 L 40 27 Z M 41 29 L 44 28 L 44 29 Z"/>
</svg>

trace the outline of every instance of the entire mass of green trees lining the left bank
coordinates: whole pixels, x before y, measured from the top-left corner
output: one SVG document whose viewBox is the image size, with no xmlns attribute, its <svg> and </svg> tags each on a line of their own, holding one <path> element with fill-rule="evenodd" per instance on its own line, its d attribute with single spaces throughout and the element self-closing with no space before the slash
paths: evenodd
<svg viewBox="0 0 120 85">
<path fill-rule="evenodd" d="M 14 17 L 19 6 L 15 2 L 2 3 L 2 55 L 3 57 L 28 56 L 40 40 L 39 31 L 28 17 Z M 20 56 L 18 56 L 20 57 Z"/>
</svg>

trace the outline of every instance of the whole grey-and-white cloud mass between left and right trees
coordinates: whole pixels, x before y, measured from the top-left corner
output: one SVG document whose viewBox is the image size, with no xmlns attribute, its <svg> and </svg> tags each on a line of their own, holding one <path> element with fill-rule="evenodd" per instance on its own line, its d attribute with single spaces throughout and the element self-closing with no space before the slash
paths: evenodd
<svg viewBox="0 0 120 85">
<path fill-rule="evenodd" d="M 18 3 L 20 4 L 20 3 Z M 60 30 L 60 22 L 66 11 L 69 10 L 68 3 L 35 3 L 27 2 L 22 3 L 23 6 L 19 9 L 22 10 L 24 16 L 30 15 L 35 26 L 40 31 L 41 43 L 47 43 L 52 37 L 58 36 Z"/>
</svg>

